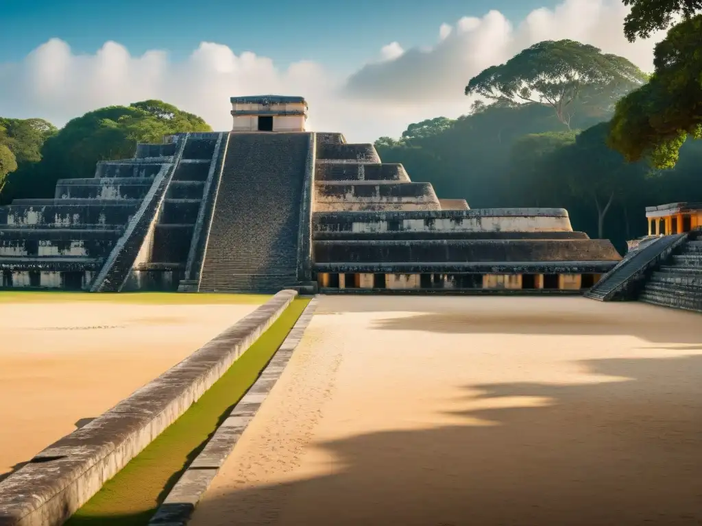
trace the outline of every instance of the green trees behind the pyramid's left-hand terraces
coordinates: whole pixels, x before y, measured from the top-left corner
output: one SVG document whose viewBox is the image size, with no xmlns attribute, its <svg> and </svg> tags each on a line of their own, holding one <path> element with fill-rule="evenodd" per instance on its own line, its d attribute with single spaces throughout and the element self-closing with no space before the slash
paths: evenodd
<svg viewBox="0 0 702 526">
<path fill-rule="evenodd" d="M 10 120 L 0 119 L 0 126 Z M 3 203 L 21 197 L 53 197 L 59 179 L 93 177 L 98 161 L 131 157 L 137 142 L 161 142 L 164 135 L 212 130 L 199 116 L 160 100 L 97 109 L 58 131 L 46 121 L 29 121 L 43 135 L 40 142 L 20 141 L 23 146 L 13 150 L 18 168 L 6 177 L 0 193 Z"/>
</svg>

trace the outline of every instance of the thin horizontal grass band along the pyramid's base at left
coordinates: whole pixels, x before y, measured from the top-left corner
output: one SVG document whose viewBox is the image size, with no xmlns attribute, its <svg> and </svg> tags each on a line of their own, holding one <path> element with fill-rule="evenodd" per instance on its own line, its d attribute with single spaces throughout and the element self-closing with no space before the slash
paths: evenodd
<svg viewBox="0 0 702 526">
<path fill-rule="evenodd" d="M 265 294 L 210 294 L 204 292 L 67 292 L 65 290 L 0 290 L 3 303 L 110 302 L 154 305 L 264 304 Z"/>
</svg>

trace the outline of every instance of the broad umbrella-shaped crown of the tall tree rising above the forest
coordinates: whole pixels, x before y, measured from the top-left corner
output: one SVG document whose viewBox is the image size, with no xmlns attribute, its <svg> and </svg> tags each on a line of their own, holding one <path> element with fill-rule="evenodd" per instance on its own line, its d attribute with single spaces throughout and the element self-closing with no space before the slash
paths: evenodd
<svg viewBox="0 0 702 526">
<path fill-rule="evenodd" d="M 571 128 L 576 100 L 605 108 L 646 79 L 629 60 L 601 53 L 573 40 L 534 44 L 505 64 L 474 76 L 465 95 L 479 95 L 498 104 L 543 104 Z"/>
</svg>

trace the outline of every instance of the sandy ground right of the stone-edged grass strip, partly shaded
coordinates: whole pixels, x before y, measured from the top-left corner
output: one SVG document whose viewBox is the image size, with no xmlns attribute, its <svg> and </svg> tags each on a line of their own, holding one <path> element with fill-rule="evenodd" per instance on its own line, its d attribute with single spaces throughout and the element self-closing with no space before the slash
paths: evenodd
<svg viewBox="0 0 702 526">
<path fill-rule="evenodd" d="M 700 525 L 702 316 L 325 297 L 192 526 Z"/>
</svg>

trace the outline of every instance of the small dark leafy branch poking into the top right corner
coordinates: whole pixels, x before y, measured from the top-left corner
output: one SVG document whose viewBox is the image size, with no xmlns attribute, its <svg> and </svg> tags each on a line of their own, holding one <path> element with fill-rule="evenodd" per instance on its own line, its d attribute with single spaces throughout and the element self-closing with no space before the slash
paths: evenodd
<svg viewBox="0 0 702 526">
<path fill-rule="evenodd" d="M 702 0 L 622 0 L 631 11 L 624 19 L 624 34 L 633 42 L 668 29 L 675 17 L 691 18 L 702 10 Z"/>
</svg>

